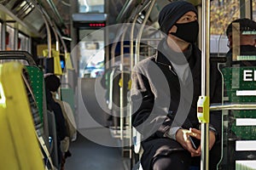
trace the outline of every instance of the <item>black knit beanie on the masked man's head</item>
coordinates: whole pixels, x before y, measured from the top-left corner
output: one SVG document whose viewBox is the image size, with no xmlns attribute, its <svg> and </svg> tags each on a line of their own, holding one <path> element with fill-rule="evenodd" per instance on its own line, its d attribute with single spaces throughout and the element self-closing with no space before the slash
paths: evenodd
<svg viewBox="0 0 256 170">
<path fill-rule="evenodd" d="M 176 1 L 167 4 L 159 14 L 158 23 L 160 25 L 160 31 L 168 34 L 168 31 L 171 30 L 177 20 L 189 11 L 193 11 L 197 15 L 197 10 L 192 3 Z"/>
</svg>

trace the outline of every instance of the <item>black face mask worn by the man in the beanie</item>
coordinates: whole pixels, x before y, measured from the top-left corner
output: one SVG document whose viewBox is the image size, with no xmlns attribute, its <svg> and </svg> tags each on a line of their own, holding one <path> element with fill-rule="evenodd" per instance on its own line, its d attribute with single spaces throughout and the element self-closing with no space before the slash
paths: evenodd
<svg viewBox="0 0 256 170">
<path fill-rule="evenodd" d="M 183 24 L 175 24 L 174 26 L 177 26 L 177 31 L 171 32 L 173 36 L 179 37 L 185 42 L 194 43 L 196 41 L 199 31 L 197 20 Z"/>
</svg>

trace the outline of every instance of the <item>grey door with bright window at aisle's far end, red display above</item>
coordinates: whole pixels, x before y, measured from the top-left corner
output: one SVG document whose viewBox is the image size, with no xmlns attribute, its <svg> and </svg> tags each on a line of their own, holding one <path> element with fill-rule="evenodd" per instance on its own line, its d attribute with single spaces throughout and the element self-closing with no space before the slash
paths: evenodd
<svg viewBox="0 0 256 170">
<path fill-rule="evenodd" d="M 102 127 L 108 114 L 102 105 L 105 89 L 101 77 L 105 71 L 106 14 L 74 14 L 74 26 L 78 28 L 78 128 Z M 84 21 L 85 19 L 85 21 Z M 88 20 L 86 20 L 88 19 Z M 107 107 L 107 105 L 106 105 Z"/>
</svg>

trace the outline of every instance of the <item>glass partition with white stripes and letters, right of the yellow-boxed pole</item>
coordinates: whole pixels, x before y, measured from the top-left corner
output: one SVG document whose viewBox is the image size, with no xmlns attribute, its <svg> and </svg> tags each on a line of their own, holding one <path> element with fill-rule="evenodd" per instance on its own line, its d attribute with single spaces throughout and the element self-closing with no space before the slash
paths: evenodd
<svg viewBox="0 0 256 170">
<path fill-rule="evenodd" d="M 252 4 L 255 7 L 255 3 Z M 217 54 L 212 52 L 211 54 L 227 59 L 224 64 L 218 66 L 223 76 L 223 104 L 230 105 L 229 110 L 222 111 L 222 159 L 218 164 L 218 169 L 256 169 L 256 110 L 253 107 L 247 107 L 256 102 L 256 51 L 253 51 L 253 47 L 240 46 L 242 35 L 256 36 L 256 31 L 240 29 L 241 26 L 236 23 L 232 27 L 233 43 L 230 43 L 226 37 L 226 28 L 232 20 L 240 18 L 239 13 L 244 3 L 230 1 L 223 5 L 222 11 L 218 13 L 224 14 L 227 22 L 219 26 L 222 27 L 222 31 L 216 29 L 218 30 L 216 32 L 221 34 L 214 35 L 218 39 L 215 43 L 212 41 L 214 36 L 211 35 L 212 52 L 216 49 L 218 51 Z M 224 11 L 230 11 L 229 7 L 236 8 L 231 10 L 235 13 L 227 14 Z M 212 13 L 214 14 L 214 11 Z M 217 22 L 217 19 L 214 22 Z M 214 45 L 217 47 L 214 48 Z"/>
</svg>

